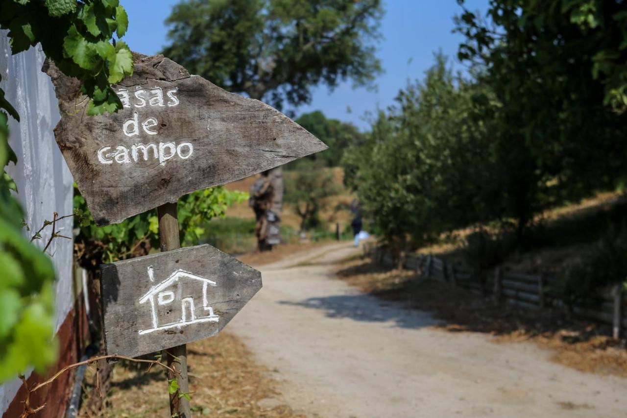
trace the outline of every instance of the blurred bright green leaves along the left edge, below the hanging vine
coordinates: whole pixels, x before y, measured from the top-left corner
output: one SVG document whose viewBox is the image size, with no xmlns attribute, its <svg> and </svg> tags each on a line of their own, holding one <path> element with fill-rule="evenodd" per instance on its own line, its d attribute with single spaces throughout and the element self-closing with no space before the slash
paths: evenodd
<svg viewBox="0 0 627 418">
<path fill-rule="evenodd" d="M 6 115 L 0 112 L 0 166 L 9 161 Z M 14 160 L 13 160 L 14 161 Z M 42 371 L 56 359 L 50 342 L 54 330 L 55 269 L 40 249 L 20 230 L 22 212 L 10 195 L 14 183 L 0 178 L 0 382 L 27 367 Z"/>
</svg>

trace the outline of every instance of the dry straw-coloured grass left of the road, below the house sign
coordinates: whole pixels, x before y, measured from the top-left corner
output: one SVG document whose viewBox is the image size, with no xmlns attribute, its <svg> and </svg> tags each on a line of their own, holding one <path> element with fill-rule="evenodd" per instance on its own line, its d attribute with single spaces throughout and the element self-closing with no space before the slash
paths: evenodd
<svg viewBox="0 0 627 418">
<path fill-rule="evenodd" d="M 228 332 L 187 345 L 194 416 L 301 417 L 280 400 L 271 372 Z M 169 416 L 164 372 L 120 363 L 113 370 L 105 417 Z M 83 416 L 85 416 L 83 414 Z"/>
</svg>

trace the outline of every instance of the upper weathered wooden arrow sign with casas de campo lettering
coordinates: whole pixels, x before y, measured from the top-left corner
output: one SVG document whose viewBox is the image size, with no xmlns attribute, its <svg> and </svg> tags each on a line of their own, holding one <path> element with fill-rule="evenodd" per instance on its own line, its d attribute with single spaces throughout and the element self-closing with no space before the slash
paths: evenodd
<svg viewBox="0 0 627 418">
<path fill-rule="evenodd" d="M 114 85 L 116 114 L 88 116 L 80 82 L 53 63 L 56 142 L 97 225 L 122 222 L 191 191 L 327 149 L 278 110 L 231 94 L 162 55 L 134 55 Z"/>
</svg>

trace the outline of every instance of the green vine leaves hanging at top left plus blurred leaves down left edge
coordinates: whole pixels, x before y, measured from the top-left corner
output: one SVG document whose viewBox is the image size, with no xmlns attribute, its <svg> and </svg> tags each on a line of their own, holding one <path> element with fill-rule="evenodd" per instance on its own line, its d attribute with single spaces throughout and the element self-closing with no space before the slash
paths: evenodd
<svg viewBox="0 0 627 418">
<path fill-rule="evenodd" d="M 13 54 L 40 43 L 63 73 L 82 82 L 90 114 L 122 107 L 110 83 L 132 73 L 133 65 L 128 46 L 119 41 L 128 18 L 118 0 L 0 0 L 0 11 Z M 11 195 L 18 190 L 4 171 L 9 161 L 17 163 L 8 115 L 19 121 L 0 89 L 0 383 L 31 366 L 43 372 L 57 353 L 53 264 L 23 237 L 23 212 Z"/>
</svg>

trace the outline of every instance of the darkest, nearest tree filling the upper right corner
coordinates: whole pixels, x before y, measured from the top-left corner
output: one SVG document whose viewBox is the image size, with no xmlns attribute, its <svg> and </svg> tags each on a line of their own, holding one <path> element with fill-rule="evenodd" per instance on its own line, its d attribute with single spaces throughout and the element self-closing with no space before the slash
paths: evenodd
<svg viewBox="0 0 627 418">
<path fill-rule="evenodd" d="M 480 119 L 499 163 L 493 199 L 517 220 L 520 240 L 545 208 L 624 183 L 622 1 L 494 0 L 487 19 L 465 10 L 458 31 L 459 58 L 490 92 Z"/>
</svg>

